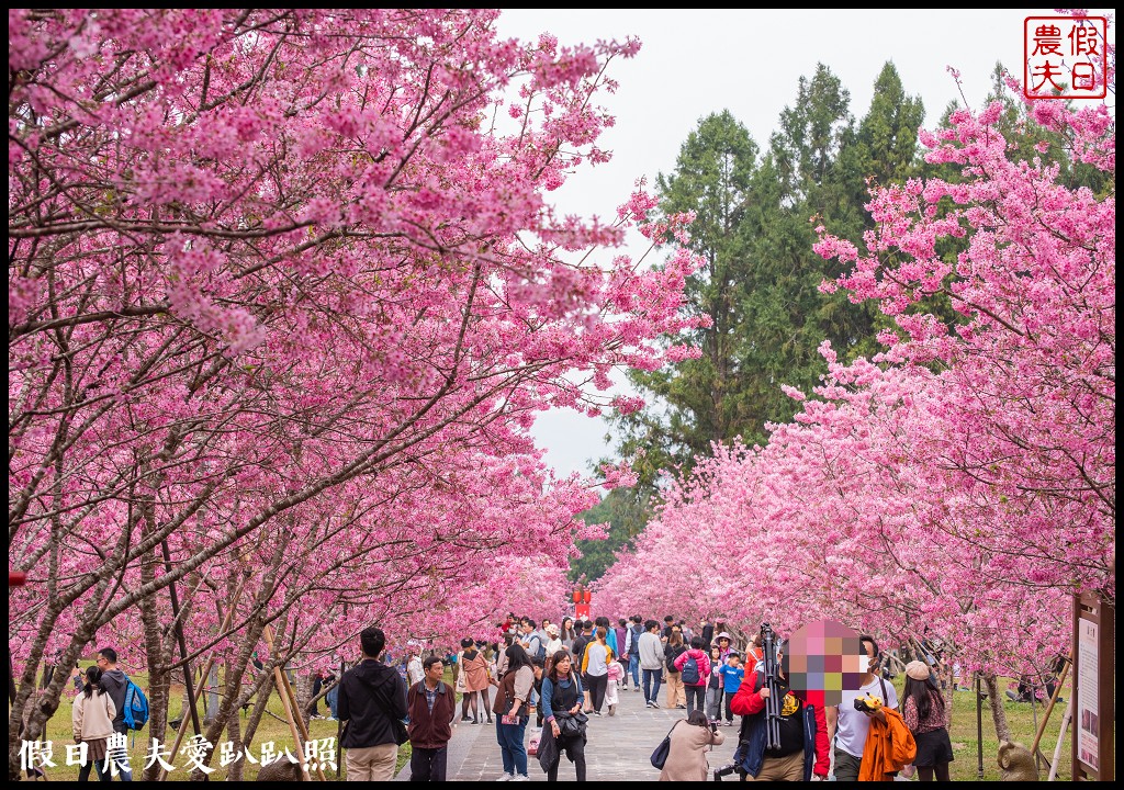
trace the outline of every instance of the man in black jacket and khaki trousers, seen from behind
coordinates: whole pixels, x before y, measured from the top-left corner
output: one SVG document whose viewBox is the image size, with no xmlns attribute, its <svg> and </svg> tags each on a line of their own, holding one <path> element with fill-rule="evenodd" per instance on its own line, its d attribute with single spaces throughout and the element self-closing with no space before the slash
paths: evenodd
<svg viewBox="0 0 1124 790">
<path fill-rule="evenodd" d="M 360 634 L 363 660 L 339 681 L 339 742 L 347 750 L 347 781 L 390 781 L 398 761 L 398 730 L 406 718 L 406 681 L 379 656 L 387 646 L 382 629 Z M 397 724 L 396 724 L 397 723 Z"/>
</svg>

